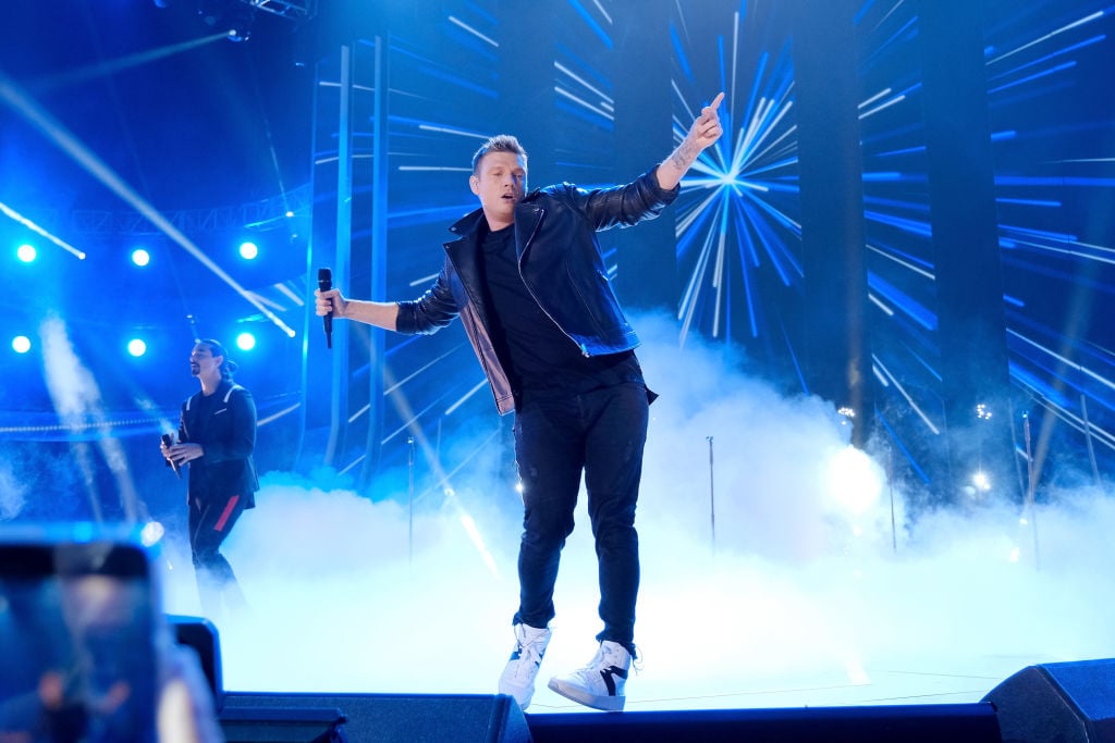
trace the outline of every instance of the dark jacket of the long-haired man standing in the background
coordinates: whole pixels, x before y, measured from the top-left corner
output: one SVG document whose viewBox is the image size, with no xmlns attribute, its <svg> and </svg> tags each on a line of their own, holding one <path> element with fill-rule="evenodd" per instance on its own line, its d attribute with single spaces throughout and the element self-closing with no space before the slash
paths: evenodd
<svg viewBox="0 0 1115 743">
<path fill-rule="evenodd" d="M 255 401 L 244 388 L 222 381 L 213 393 L 210 414 L 200 411 L 202 393 L 182 403 L 181 443 L 200 443 L 205 453 L 190 462 L 188 502 L 241 496 L 255 507 L 260 489 L 252 450 L 255 448 Z"/>
</svg>

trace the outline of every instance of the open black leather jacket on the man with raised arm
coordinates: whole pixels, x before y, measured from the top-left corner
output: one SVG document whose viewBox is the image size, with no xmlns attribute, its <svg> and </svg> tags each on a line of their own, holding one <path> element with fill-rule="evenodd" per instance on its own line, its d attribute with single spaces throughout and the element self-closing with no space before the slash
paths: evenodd
<svg viewBox="0 0 1115 743">
<path fill-rule="evenodd" d="M 571 184 L 531 192 L 515 206 L 518 273 L 539 306 L 586 356 L 628 351 L 639 339 L 623 316 L 604 268 L 597 231 L 658 216 L 680 187 L 665 190 L 651 168 L 626 186 L 585 190 Z M 434 333 L 459 315 L 501 414 L 515 408 L 507 374 L 492 346 L 477 266 L 482 209 L 449 231 L 445 266 L 421 297 L 400 302 L 396 330 Z"/>
</svg>

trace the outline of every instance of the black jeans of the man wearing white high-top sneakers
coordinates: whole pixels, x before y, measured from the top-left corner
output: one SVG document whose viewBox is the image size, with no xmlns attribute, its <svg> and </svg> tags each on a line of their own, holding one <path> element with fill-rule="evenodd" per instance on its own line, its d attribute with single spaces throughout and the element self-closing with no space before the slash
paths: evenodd
<svg viewBox="0 0 1115 743">
<path fill-rule="evenodd" d="M 515 622 L 545 627 L 554 617 L 554 581 L 584 475 L 600 574 L 598 641 L 634 651 L 639 536 L 634 529 L 647 388 L 627 382 L 556 400 L 524 395 L 515 412 L 515 456 L 523 483 Z"/>
</svg>

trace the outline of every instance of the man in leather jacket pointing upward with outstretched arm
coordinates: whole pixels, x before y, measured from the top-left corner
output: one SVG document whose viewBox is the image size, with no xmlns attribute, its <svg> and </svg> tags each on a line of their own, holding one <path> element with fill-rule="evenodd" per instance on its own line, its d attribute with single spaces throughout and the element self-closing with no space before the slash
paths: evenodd
<svg viewBox="0 0 1115 743">
<path fill-rule="evenodd" d="M 317 313 L 399 333 L 433 333 L 460 317 L 500 413 L 515 412 L 523 485 L 515 646 L 500 692 L 526 708 L 550 642 L 558 564 L 573 530 L 584 477 L 600 580 L 599 647 L 554 692 L 598 710 L 623 708 L 639 589 L 636 502 L 656 397 L 634 355 L 638 338 L 608 282 L 595 233 L 658 216 L 682 176 L 721 134 L 721 92 L 680 145 L 624 186 L 570 184 L 526 193 L 526 151 L 515 137 L 488 139 L 473 157 L 479 208 L 454 224 L 445 264 L 409 302 L 345 299 L 318 291 Z"/>
</svg>

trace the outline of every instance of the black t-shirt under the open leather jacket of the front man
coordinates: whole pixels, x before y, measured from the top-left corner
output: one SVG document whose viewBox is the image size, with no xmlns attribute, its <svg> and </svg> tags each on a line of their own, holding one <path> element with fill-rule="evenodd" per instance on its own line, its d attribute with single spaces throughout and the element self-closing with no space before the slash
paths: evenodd
<svg viewBox="0 0 1115 743">
<path fill-rule="evenodd" d="M 585 356 L 539 306 L 518 273 L 514 225 L 496 232 L 482 229 L 481 266 L 488 323 L 496 353 L 516 394 L 576 393 L 642 381 L 633 351 Z"/>
</svg>

